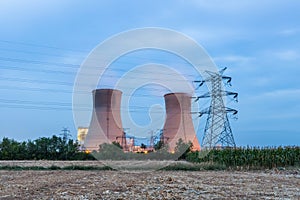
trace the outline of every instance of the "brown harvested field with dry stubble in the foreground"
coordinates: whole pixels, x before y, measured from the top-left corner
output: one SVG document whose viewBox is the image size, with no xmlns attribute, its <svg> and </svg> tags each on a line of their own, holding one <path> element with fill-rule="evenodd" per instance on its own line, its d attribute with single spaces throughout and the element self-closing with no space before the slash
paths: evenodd
<svg viewBox="0 0 300 200">
<path fill-rule="evenodd" d="M 276 171 L 0 170 L 0 199 L 300 199 L 300 176 Z"/>
</svg>

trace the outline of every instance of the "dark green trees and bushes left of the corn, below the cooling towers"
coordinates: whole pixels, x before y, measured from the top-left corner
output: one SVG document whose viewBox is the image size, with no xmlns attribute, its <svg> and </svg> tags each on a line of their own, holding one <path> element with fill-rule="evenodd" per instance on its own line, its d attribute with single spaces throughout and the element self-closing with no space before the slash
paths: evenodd
<svg viewBox="0 0 300 200">
<path fill-rule="evenodd" d="M 98 151 L 86 153 L 79 150 L 77 141 L 67 140 L 56 135 L 24 142 L 5 137 L 0 141 L 0 160 L 177 160 L 185 159 L 191 147 L 191 143 L 184 143 L 182 139 L 179 139 L 175 152 L 170 153 L 167 144 L 158 142 L 155 145 L 155 152 L 146 155 L 125 153 L 119 143 L 113 142 L 112 144 L 101 144 Z"/>
</svg>

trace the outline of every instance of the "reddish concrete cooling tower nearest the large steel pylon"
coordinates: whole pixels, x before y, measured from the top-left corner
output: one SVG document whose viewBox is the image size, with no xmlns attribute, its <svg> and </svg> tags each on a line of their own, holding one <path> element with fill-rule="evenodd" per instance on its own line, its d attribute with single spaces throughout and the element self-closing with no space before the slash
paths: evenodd
<svg viewBox="0 0 300 200">
<path fill-rule="evenodd" d="M 166 121 L 163 136 L 169 150 L 174 151 L 179 138 L 185 143 L 191 141 L 193 150 L 200 150 L 191 117 L 191 96 L 187 93 L 169 93 L 164 98 Z"/>
</svg>

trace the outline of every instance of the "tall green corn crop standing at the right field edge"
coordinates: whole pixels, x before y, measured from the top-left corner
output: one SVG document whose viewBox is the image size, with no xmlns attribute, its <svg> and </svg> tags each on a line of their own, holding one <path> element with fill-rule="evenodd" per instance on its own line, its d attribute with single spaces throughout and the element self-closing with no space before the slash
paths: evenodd
<svg viewBox="0 0 300 200">
<path fill-rule="evenodd" d="M 195 157 L 195 153 L 191 153 L 187 160 L 214 162 L 229 168 L 245 169 L 299 167 L 300 147 L 213 149 L 204 157 Z"/>
</svg>

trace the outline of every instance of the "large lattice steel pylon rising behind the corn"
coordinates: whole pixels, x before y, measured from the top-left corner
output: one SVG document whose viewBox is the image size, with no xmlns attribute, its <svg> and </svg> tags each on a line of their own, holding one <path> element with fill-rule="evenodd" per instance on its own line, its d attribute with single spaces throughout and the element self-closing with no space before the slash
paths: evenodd
<svg viewBox="0 0 300 200">
<path fill-rule="evenodd" d="M 202 148 L 211 149 L 215 147 L 235 147 L 235 142 L 228 120 L 228 113 L 233 115 L 237 114 L 237 110 L 228 108 L 224 105 L 225 96 L 232 96 L 237 102 L 238 93 L 229 92 L 223 90 L 223 81 L 226 81 L 226 85 L 231 86 L 231 77 L 224 76 L 223 73 L 226 68 L 219 72 L 206 71 L 209 77 L 205 80 L 195 81 L 199 83 L 199 87 L 204 83 L 210 83 L 211 90 L 196 98 L 198 101 L 201 98 L 211 97 L 210 106 L 199 112 L 201 117 L 203 114 L 207 114 L 206 125 L 204 129 L 204 135 L 202 139 Z"/>
</svg>

